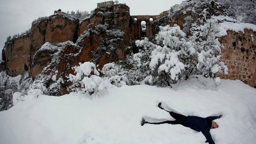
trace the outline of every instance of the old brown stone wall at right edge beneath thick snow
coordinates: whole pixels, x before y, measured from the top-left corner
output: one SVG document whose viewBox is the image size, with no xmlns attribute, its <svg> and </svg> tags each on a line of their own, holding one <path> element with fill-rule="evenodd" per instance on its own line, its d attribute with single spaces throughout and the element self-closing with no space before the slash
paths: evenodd
<svg viewBox="0 0 256 144">
<path fill-rule="evenodd" d="M 254 87 L 256 82 L 256 32 L 245 29 L 245 33 L 228 31 L 228 35 L 220 37 L 225 46 L 222 49 L 222 61 L 228 67 L 226 79 L 239 79 Z"/>
</svg>

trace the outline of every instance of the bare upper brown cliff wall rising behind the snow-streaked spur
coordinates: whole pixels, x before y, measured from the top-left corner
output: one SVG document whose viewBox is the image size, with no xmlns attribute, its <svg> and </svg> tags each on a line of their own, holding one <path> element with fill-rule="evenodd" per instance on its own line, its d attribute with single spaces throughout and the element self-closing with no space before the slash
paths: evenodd
<svg viewBox="0 0 256 144">
<path fill-rule="evenodd" d="M 124 4 L 97 8 L 90 18 L 80 22 L 78 18 L 72 15 L 59 13 L 50 17 L 39 18 L 33 22 L 29 33 L 12 38 L 5 43 L 7 74 L 17 76 L 29 70 L 29 74 L 35 78 L 45 66 L 50 64 L 52 58 L 51 53 L 37 53 L 42 45 L 46 42 L 72 41 L 75 43 L 78 37 L 92 26 L 107 24 L 109 29 L 121 30 L 124 34 L 123 44 L 128 46 L 132 38 L 131 21 L 129 7 Z M 85 47 L 91 47 L 94 45 L 94 41 L 100 38 L 100 36 L 94 37 L 92 41 L 87 42 Z M 35 57 L 36 53 L 37 57 Z M 117 53 L 117 58 L 124 59 L 124 48 L 117 49 L 115 53 Z M 101 59 L 103 60 L 103 58 Z M 103 64 L 104 62 L 100 63 Z"/>
</svg>

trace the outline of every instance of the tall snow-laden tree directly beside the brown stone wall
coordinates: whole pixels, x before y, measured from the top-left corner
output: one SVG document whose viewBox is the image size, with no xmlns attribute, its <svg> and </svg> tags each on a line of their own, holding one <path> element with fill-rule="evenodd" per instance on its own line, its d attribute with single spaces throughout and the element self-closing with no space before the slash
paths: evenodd
<svg viewBox="0 0 256 144">
<path fill-rule="evenodd" d="M 220 61 L 221 47 L 217 36 L 219 35 L 219 25 L 216 21 L 207 20 L 205 25 L 199 29 L 200 36 L 197 39 L 197 72 L 204 77 L 214 78 L 215 84 L 219 85 L 217 74 L 227 74 L 227 66 Z M 192 67 L 194 69 L 194 67 Z"/>
</svg>

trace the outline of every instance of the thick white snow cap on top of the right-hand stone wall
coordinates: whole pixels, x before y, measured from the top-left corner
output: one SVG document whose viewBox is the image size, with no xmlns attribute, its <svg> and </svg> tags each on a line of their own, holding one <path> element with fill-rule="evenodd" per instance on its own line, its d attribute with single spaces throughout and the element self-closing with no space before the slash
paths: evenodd
<svg viewBox="0 0 256 144">
<path fill-rule="evenodd" d="M 227 30 L 235 31 L 236 33 L 243 32 L 244 29 L 252 29 L 256 32 L 256 25 L 249 23 L 232 23 L 232 22 L 223 22 L 220 23 L 220 32 L 219 37 L 227 36 Z"/>
</svg>

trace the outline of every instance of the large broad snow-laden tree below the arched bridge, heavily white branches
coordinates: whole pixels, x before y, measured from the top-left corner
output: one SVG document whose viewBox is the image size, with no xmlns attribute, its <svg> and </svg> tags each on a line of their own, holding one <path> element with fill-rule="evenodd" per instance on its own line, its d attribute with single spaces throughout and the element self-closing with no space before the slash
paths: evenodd
<svg viewBox="0 0 256 144">
<path fill-rule="evenodd" d="M 150 84 L 171 86 L 172 83 L 185 78 L 188 62 L 192 58 L 190 55 L 195 54 L 195 50 L 190 42 L 186 41 L 186 34 L 178 25 L 160 27 L 160 30 L 156 37 L 156 45 L 147 38 L 136 41 L 136 45 L 144 47 L 144 50 L 137 53 L 134 60 L 138 66 L 148 66 L 149 75 L 145 79 L 148 79 Z M 147 53 L 150 53 L 149 57 L 145 56 Z M 149 61 L 141 62 L 142 56 L 148 57 Z"/>
</svg>

